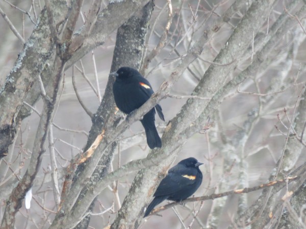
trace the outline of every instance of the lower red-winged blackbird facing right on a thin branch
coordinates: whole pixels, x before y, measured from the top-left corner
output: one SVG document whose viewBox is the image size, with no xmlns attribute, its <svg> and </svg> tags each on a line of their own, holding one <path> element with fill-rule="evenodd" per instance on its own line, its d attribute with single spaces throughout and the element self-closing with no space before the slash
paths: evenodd
<svg viewBox="0 0 306 229">
<path fill-rule="evenodd" d="M 143 217 L 148 216 L 155 206 L 165 199 L 182 201 L 191 196 L 200 187 L 203 175 L 199 166 L 203 164 L 193 157 L 180 161 L 168 170 L 168 175 L 161 181 L 147 207 Z"/>
</svg>

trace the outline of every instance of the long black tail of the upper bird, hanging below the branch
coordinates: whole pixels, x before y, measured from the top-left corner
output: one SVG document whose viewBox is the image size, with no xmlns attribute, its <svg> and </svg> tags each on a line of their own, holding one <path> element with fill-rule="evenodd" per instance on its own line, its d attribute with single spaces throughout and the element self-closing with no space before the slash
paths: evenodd
<svg viewBox="0 0 306 229">
<path fill-rule="evenodd" d="M 158 135 L 157 129 L 155 127 L 155 110 L 154 108 L 150 110 L 146 115 L 143 116 L 141 123 L 144 127 L 145 135 L 147 138 L 147 144 L 150 149 L 155 147 L 162 147 L 162 140 Z"/>
</svg>

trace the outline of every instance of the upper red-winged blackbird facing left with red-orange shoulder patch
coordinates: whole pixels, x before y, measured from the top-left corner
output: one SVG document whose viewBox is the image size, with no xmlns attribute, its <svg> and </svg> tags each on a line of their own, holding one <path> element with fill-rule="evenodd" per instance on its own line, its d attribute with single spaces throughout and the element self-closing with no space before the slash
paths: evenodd
<svg viewBox="0 0 306 229">
<path fill-rule="evenodd" d="M 113 93 L 117 107 L 127 115 L 141 107 L 154 93 L 151 84 L 136 69 L 121 67 L 110 75 L 116 76 Z M 158 116 L 165 121 L 162 107 L 157 104 L 140 120 L 149 148 L 162 147 L 162 140 L 155 127 L 155 109 Z"/>
</svg>

